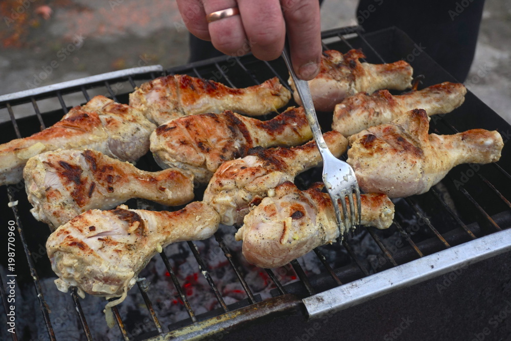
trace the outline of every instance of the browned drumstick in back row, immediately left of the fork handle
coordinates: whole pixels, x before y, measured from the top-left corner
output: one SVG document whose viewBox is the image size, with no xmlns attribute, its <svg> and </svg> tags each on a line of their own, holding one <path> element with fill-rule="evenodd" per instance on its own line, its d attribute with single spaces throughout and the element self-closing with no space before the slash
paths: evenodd
<svg viewBox="0 0 511 341">
<path fill-rule="evenodd" d="M 276 77 L 261 85 L 235 89 L 187 75 L 170 75 L 142 84 L 129 94 L 129 104 L 162 125 L 185 115 L 224 110 L 260 116 L 285 106 L 290 98 L 291 93 Z"/>
</svg>

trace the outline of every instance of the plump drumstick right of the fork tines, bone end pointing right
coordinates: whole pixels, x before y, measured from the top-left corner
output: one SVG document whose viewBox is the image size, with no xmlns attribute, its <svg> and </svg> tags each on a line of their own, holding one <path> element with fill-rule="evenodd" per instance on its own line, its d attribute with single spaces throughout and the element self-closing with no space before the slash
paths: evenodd
<svg viewBox="0 0 511 341">
<path fill-rule="evenodd" d="M 497 131 L 428 135 L 428 129 L 426 112 L 415 109 L 350 136 L 347 162 L 360 188 L 390 198 L 425 193 L 458 164 L 498 161 L 504 145 Z"/>
</svg>

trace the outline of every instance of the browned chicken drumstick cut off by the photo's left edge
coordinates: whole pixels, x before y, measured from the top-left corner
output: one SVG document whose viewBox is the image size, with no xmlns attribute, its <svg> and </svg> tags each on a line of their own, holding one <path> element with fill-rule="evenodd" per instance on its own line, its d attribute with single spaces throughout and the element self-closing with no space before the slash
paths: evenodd
<svg viewBox="0 0 511 341">
<path fill-rule="evenodd" d="M 134 162 L 149 151 L 154 129 L 140 111 L 96 96 L 69 110 L 52 127 L 0 145 L 0 185 L 21 181 L 23 167 L 32 156 L 60 148 L 93 149 Z"/>
</svg>

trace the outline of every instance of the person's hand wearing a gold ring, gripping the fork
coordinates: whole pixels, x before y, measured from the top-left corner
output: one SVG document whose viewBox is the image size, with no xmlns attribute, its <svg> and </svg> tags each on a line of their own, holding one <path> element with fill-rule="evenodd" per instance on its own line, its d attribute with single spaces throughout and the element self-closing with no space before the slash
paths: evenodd
<svg viewBox="0 0 511 341">
<path fill-rule="evenodd" d="M 190 32 L 210 40 L 226 55 L 251 51 L 262 60 L 276 59 L 282 54 L 287 32 L 297 76 L 310 80 L 319 71 L 318 0 L 177 0 L 177 5 Z M 239 15 L 207 22 L 207 14 L 233 7 L 239 8 Z"/>
</svg>

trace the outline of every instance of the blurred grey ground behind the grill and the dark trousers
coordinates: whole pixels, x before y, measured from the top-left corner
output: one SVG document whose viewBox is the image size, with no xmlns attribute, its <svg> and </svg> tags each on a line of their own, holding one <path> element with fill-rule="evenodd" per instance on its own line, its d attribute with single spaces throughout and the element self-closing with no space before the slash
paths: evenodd
<svg viewBox="0 0 511 341">
<path fill-rule="evenodd" d="M 357 3 L 325 0 L 322 29 L 356 25 Z M 174 1 L 2 0 L 0 20 L 0 94 L 189 57 Z M 466 85 L 511 123 L 510 37 L 511 1 L 486 1 Z"/>
</svg>

